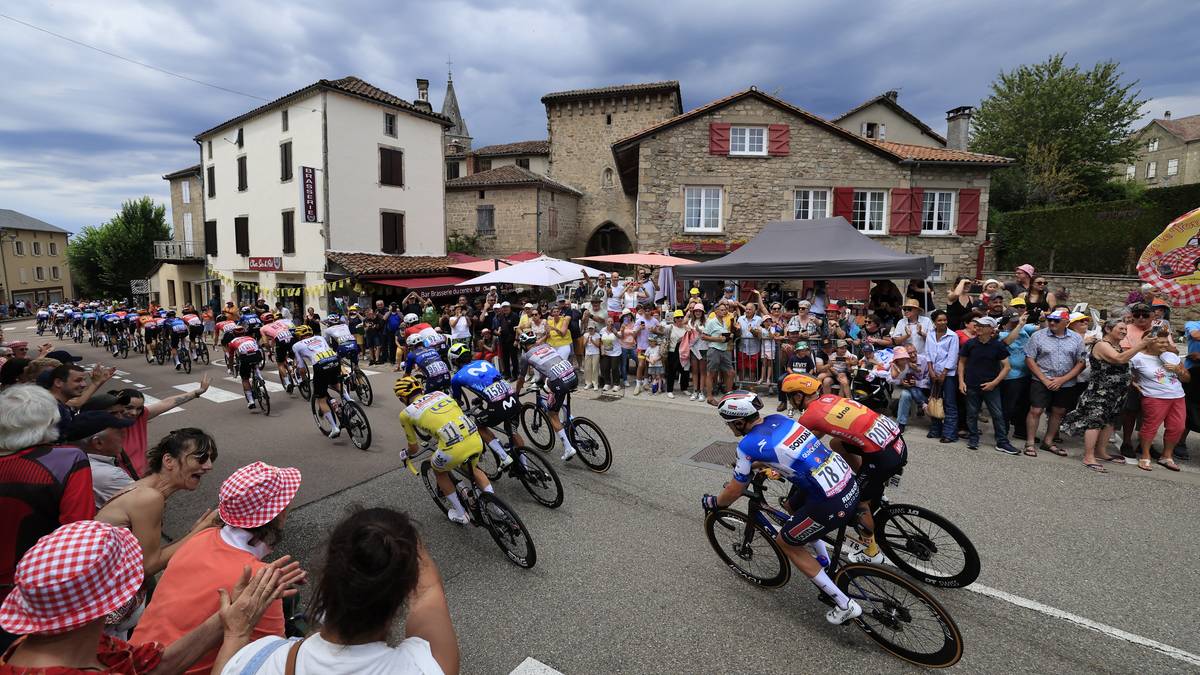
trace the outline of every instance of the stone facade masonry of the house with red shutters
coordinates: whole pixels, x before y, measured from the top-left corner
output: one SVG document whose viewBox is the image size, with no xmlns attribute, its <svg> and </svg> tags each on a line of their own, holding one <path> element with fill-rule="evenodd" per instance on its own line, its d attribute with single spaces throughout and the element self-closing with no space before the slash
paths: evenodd
<svg viewBox="0 0 1200 675">
<path fill-rule="evenodd" d="M 788 124 L 791 153 L 786 156 L 731 157 L 708 153 L 708 125 Z M 642 142 L 638 174 L 638 249 L 660 250 L 689 238 L 750 239 L 772 221 L 794 216 L 794 191 L 836 186 L 978 187 L 979 233 L 938 237 L 878 235 L 892 249 L 932 255 L 943 275 L 974 274 L 978 245 L 986 233 L 988 171 L 959 167 L 910 167 L 836 136 L 788 112 L 755 98 L 742 100 L 665 130 Z M 684 233 L 684 187 L 719 185 L 722 228 L 718 234 Z M 888 204 L 890 209 L 890 204 Z"/>
</svg>

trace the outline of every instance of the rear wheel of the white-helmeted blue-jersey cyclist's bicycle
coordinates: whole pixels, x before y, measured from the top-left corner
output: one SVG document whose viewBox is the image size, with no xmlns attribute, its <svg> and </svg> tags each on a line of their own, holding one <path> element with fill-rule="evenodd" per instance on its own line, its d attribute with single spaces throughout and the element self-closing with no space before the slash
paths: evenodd
<svg viewBox="0 0 1200 675">
<path fill-rule="evenodd" d="M 925 668 L 949 668 L 962 658 L 954 619 L 908 579 L 878 565 L 847 565 L 833 581 L 863 607 L 854 623 L 884 650 Z"/>
</svg>

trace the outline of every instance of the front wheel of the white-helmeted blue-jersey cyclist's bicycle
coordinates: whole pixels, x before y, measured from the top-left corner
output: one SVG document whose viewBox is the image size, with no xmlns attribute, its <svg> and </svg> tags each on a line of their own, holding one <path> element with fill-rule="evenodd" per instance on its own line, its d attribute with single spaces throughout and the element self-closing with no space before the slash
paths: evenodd
<svg viewBox="0 0 1200 675">
<path fill-rule="evenodd" d="M 778 589 L 792 578 L 792 565 L 775 538 L 740 510 L 709 513 L 704 533 L 721 561 L 755 586 Z"/>
</svg>

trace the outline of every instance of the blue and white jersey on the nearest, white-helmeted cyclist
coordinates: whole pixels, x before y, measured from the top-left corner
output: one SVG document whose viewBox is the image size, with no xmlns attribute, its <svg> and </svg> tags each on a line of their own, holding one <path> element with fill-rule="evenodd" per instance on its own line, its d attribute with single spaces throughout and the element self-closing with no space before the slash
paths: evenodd
<svg viewBox="0 0 1200 675">
<path fill-rule="evenodd" d="M 770 465 L 799 486 L 806 504 L 840 503 L 850 509 L 858 503 L 858 484 L 846 460 L 786 416 L 767 416 L 742 438 L 733 479 L 749 483 L 756 461 Z"/>
</svg>

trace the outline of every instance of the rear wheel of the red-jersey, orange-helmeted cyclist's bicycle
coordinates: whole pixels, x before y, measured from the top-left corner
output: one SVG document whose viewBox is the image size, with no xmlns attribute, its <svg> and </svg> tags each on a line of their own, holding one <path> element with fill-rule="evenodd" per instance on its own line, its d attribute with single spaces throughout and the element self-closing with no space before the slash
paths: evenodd
<svg viewBox="0 0 1200 675">
<path fill-rule="evenodd" d="M 910 577 L 961 589 L 979 578 L 979 554 L 953 522 L 913 504 L 888 504 L 875 514 L 875 542 Z"/>
</svg>

